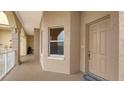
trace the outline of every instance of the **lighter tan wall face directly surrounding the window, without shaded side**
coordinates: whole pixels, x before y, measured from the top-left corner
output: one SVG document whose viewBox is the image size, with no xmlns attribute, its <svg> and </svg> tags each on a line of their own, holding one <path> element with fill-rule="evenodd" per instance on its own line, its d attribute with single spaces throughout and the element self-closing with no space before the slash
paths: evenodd
<svg viewBox="0 0 124 93">
<path fill-rule="evenodd" d="M 64 59 L 48 59 L 48 27 L 64 26 Z M 44 12 L 42 19 L 42 68 L 46 71 L 70 73 L 70 12 Z"/>
</svg>

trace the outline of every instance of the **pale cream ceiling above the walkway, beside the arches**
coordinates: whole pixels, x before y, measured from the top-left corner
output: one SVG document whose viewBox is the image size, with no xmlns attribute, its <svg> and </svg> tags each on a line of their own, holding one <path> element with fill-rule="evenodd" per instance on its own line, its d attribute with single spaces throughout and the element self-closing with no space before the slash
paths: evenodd
<svg viewBox="0 0 124 93">
<path fill-rule="evenodd" d="M 17 11 L 15 13 L 28 35 L 34 35 L 34 28 L 40 28 L 42 11 Z"/>
</svg>

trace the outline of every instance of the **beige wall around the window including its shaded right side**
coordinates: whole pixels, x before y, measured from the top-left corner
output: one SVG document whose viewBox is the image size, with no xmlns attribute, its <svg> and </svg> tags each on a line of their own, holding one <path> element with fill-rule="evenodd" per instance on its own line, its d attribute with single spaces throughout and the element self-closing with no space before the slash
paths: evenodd
<svg viewBox="0 0 124 93">
<path fill-rule="evenodd" d="M 56 26 L 64 27 L 63 59 L 48 57 L 48 27 Z M 43 39 L 41 41 L 43 44 L 41 44 L 42 53 L 40 58 L 43 70 L 66 74 L 79 72 L 80 42 L 78 40 L 80 38 L 80 14 L 78 12 L 44 12 L 41 31 L 41 39 Z"/>
</svg>

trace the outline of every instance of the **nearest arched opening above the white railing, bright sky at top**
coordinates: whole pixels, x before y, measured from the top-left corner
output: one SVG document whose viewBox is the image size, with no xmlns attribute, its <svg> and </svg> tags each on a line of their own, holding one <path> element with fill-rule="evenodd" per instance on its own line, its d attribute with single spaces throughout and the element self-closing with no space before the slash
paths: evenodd
<svg viewBox="0 0 124 93">
<path fill-rule="evenodd" d="M 0 12 L 0 53 L 12 49 L 12 33 L 4 12 Z"/>
</svg>

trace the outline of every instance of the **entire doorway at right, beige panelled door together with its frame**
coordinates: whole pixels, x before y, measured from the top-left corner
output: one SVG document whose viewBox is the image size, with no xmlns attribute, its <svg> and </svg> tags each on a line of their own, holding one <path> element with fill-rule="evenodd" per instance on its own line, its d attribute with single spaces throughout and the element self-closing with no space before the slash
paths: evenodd
<svg viewBox="0 0 124 93">
<path fill-rule="evenodd" d="M 113 34 L 110 15 L 97 19 L 86 25 L 86 72 L 105 80 L 111 80 L 110 65 L 112 55 L 109 37 Z"/>
</svg>

